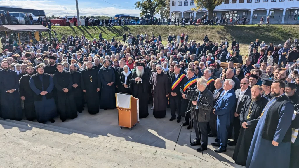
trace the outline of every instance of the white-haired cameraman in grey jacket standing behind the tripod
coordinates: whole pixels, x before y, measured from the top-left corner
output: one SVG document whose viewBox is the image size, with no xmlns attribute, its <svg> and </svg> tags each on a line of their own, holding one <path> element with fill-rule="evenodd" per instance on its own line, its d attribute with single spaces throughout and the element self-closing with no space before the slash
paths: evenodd
<svg viewBox="0 0 299 168">
<path fill-rule="evenodd" d="M 201 145 L 196 151 L 202 152 L 208 149 L 208 122 L 210 120 L 210 111 L 213 109 L 213 94 L 207 88 L 207 80 L 205 78 L 198 78 L 196 86 L 197 92 L 195 100 L 192 101 L 192 105 L 195 107 L 195 113 L 193 112 L 192 117 L 194 121 L 196 142 L 193 142 L 190 145 Z"/>
</svg>

